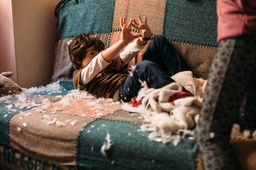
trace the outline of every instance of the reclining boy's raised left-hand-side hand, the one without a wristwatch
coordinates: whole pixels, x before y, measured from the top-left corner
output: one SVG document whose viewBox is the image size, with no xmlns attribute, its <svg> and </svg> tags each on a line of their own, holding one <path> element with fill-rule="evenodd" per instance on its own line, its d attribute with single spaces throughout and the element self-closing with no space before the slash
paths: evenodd
<svg viewBox="0 0 256 170">
<path fill-rule="evenodd" d="M 120 40 L 126 43 L 131 42 L 135 38 L 140 37 L 141 35 L 133 35 L 131 34 L 131 26 L 134 18 L 132 18 L 128 24 L 128 26 L 125 25 L 125 17 L 121 17 L 120 19 L 120 26 L 122 28 L 121 38 Z"/>
</svg>

